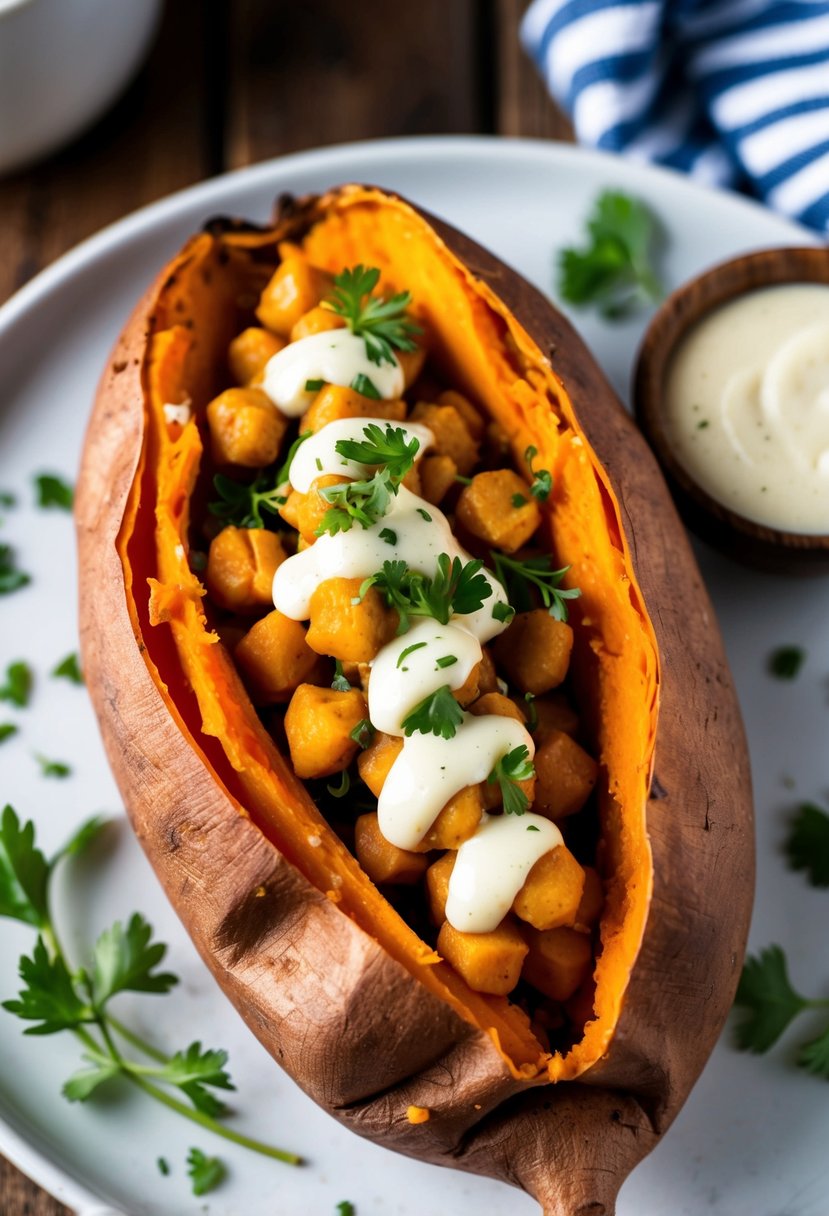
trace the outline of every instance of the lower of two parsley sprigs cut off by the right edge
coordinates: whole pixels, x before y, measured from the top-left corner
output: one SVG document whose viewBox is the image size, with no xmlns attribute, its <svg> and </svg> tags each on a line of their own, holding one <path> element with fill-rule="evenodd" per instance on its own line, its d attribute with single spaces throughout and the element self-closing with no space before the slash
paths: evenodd
<svg viewBox="0 0 829 1216">
<path fill-rule="evenodd" d="M 800 1013 L 829 1009 L 829 1000 L 810 1000 L 791 986 L 780 946 L 767 946 L 746 958 L 734 1004 L 744 1010 L 735 1030 L 737 1046 L 757 1054 L 773 1047 Z M 829 1079 L 829 1021 L 816 1038 L 800 1047 L 797 1065 Z"/>
</svg>

